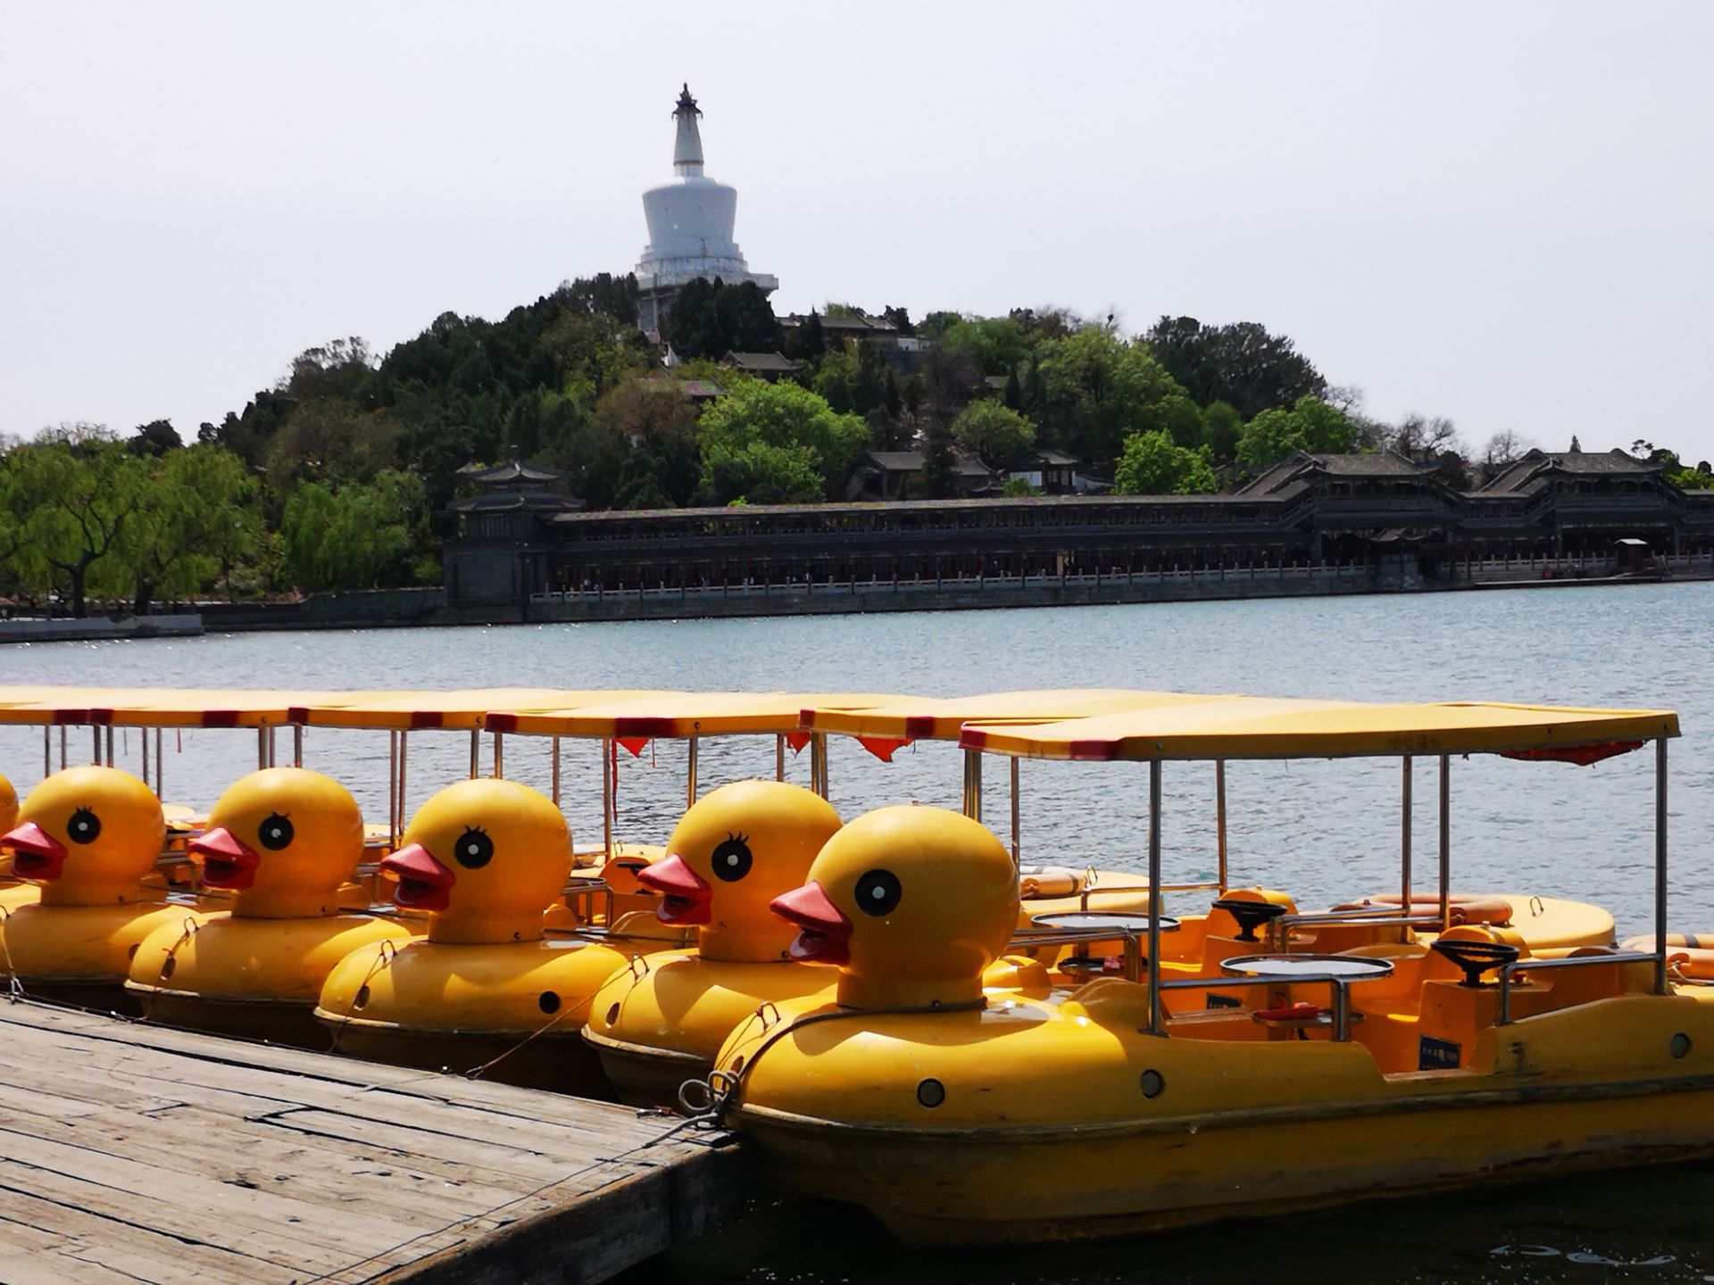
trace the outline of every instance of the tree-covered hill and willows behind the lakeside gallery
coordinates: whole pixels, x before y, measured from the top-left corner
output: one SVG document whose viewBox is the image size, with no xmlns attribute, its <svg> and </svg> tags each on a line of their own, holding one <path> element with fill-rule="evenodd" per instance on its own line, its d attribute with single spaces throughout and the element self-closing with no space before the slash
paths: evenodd
<svg viewBox="0 0 1714 1285">
<path fill-rule="evenodd" d="M 864 451 L 920 451 L 908 493 L 936 499 L 962 457 L 1027 471 L 1040 451 L 1121 493 L 1196 493 L 1292 451 L 1383 447 L 1474 487 L 1527 449 L 1507 432 L 1472 451 L 1447 420 L 1369 420 L 1255 322 L 1162 317 L 1126 336 L 1063 308 L 914 324 L 884 307 L 905 343 L 848 341 L 835 320 L 869 315 L 848 303 L 782 326 L 752 284 L 708 281 L 679 296 L 663 336 L 679 365 L 663 368 L 636 300 L 632 278 L 602 274 L 500 320 L 442 314 L 386 355 L 357 338 L 312 348 L 189 444 L 163 420 L 0 442 L 0 595 L 82 613 L 437 583 L 459 469 L 507 459 L 559 469 L 557 490 L 591 509 L 665 509 L 845 499 Z M 734 351 L 795 365 L 764 382 L 718 365 Z M 692 401 L 686 380 L 718 396 Z M 1678 485 L 1714 487 L 1707 464 L 1635 449 Z"/>
</svg>

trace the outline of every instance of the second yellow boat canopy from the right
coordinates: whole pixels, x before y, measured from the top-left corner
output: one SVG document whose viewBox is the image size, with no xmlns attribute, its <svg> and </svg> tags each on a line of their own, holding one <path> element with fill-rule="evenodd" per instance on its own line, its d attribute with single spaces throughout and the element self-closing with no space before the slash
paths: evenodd
<svg viewBox="0 0 1714 1285">
<path fill-rule="evenodd" d="M 1046 692 L 984 692 L 920 697 L 871 709 L 806 708 L 800 726 L 847 737 L 888 740 L 956 740 L 965 723 L 1049 723 L 1116 709 L 1207 701 L 1207 696 L 1138 692 L 1130 687 L 1071 687 Z"/>
</svg>

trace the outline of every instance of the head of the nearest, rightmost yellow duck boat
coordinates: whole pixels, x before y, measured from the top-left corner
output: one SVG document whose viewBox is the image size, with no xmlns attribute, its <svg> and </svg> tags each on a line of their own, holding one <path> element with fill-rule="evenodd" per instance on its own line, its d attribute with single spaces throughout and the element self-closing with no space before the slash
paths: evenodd
<svg viewBox="0 0 1714 1285">
<path fill-rule="evenodd" d="M 1018 874 L 980 822 L 938 807 L 857 817 L 773 901 L 794 959 L 836 965 L 845 1007 L 965 1006 L 1018 922 Z"/>
</svg>

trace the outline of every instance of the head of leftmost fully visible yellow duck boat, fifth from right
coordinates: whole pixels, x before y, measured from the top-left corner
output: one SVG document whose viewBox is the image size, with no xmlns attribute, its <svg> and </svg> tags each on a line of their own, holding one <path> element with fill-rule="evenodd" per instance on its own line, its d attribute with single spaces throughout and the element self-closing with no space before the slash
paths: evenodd
<svg viewBox="0 0 1714 1285">
<path fill-rule="evenodd" d="M 45 906 L 101 906 L 146 898 L 142 877 L 166 843 L 161 800 L 117 768 L 55 773 L 24 798 L 0 834 L 12 874 L 41 886 Z"/>
</svg>

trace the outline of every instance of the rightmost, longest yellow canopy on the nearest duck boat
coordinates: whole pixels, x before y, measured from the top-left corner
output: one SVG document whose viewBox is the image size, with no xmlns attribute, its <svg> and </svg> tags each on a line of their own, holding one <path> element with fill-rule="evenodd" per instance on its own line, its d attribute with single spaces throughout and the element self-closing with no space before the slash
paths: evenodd
<svg viewBox="0 0 1714 1285">
<path fill-rule="evenodd" d="M 1099 718 L 1015 726 L 970 723 L 965 749 L 1030 759 L 1320 759 L 1404 754 L 1539 754 L 1594 761 L 1676 737 L 1664 709 L 1441 702 L 1364 704 L 1203 697 Z M 1589 752 L 1580 752 L 1587 747 Z"/>
</svg>

